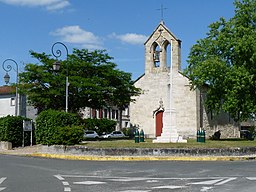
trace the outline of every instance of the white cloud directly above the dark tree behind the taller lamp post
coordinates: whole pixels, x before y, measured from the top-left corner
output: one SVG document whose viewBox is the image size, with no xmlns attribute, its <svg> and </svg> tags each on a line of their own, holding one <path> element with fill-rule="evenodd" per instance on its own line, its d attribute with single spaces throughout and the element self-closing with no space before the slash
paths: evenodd
<svg viewBox="0 0 256 192">
<path fill-rule="evenodd" d="M 92 32 L 81 29 L 78 25 L 56 29 L 51 32 L 51 35 L 59 36 L 63 42 L 78 44 L 83 48 L 102 49 L 100 38 Z"/>
</svg>

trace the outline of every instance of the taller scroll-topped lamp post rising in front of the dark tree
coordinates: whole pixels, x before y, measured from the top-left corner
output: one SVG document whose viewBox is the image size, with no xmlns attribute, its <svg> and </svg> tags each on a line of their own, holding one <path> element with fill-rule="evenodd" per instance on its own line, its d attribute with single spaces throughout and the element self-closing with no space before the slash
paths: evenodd
<svg viewBox="0 0 256 192">
<path fill-rule="evenodd" d="M 56 42 L 52 45 L 52 54 L 53 56 L 56 58 L 57 61 L 55 61 L 53 63 L 53 70 L 58 71 L 60 69 L 60 65 L 61 62 L 58 60 L 58 58 L 61 56 L 61 50 L 57 49 L 56 51 L 54 51 L 54 48 L 56 45 L 62 45 L 65 49 L 66 49 L 66 53 L 67 53 L 67 59 L 68 59 L 68 48 L 65 44 L 61 43 L 61 42 Z M 68 112 L 68 62 L 66 62 L 66 112 Z"/>
</svg>

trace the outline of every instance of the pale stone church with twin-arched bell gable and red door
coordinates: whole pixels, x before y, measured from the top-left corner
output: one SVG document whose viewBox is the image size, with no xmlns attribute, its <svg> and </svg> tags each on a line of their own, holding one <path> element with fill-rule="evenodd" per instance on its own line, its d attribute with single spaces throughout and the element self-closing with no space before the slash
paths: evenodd
<svg viewBox="0 0 256 192">
<path fill-rule="evenodd" d="M 130 123 L 155 142 L 186 142 L 200 128 L 210 136 L 238 137 L 239 124 L 227 114 L 213 117 L 203 107 L 203 94 L 191 90 L 181 72 L 181 41 L 161 21 L 145 46 L 145 73 L 135 81 L 142 94 L 130 103 Z"/>
</svg>

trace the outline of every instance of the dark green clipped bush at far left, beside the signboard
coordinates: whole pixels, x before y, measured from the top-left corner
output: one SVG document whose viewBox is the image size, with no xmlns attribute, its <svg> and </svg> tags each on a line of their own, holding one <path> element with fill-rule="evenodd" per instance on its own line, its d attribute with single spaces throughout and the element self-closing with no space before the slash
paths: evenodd
<svg viewBox="0 0 256 192">
<path fill-rule="evenodd" d="M 20 147 L 23 143 L 23 120 L 21 116 L 6 116 L 0 118 L 0 141 L 8 141 L 13 147 Z M 30 143 L 30 133 L 25 132 L 25 144 Z"/>
</svg>

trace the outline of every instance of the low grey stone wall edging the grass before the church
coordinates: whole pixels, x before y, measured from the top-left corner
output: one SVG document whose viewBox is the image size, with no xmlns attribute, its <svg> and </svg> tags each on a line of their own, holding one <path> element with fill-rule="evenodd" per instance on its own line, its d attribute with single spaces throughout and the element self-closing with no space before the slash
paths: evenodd
<svg viewBox="0 0 256 192">
<path fill-rule="evenodd" d="M 255 155 L 256 147 L 230 149 L 184 148 L 87 148 L 85 146 L 42 146 L 43 153 L 98 156 L 243 156 Z"/>
</svg>

